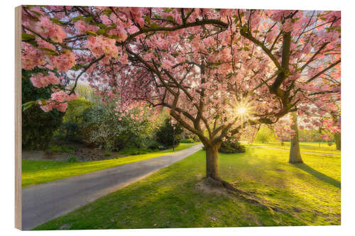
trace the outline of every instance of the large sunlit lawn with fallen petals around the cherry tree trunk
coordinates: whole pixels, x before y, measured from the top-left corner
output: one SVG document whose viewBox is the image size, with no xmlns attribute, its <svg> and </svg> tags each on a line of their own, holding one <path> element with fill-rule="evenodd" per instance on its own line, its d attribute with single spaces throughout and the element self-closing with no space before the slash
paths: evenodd
<svg viewBox="0 0 355 236">
<path fill-rule="evenodd" d="M 222 178 L 278 210 L 198 190 L 201 150 L 34 230 L 340 225 L 340 157 L 302 154 L 306 164 L 288 164 L 288 152 L 246 150 L 219 155 Z"/>
</svg>

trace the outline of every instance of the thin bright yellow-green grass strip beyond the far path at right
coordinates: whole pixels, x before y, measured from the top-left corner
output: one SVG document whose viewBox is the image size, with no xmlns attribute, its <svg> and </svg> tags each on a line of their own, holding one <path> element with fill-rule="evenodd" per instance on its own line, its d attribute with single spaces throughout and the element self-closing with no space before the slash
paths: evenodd
<svg viewBox="0 0 355 236">
<path fill-rule="evenodd" d="M 284 144 L 284 146 L 281 146 L 280 142 L 253 142 L 250 145 L 278 147 L 285 150 L 290 150 L 290 142 L 284 142 Z M 300 150 L 304 152 L 341 154 L 341 151 L 335 149 L 335 143 L 332 143 L 332 146 L 329 146 L 328 142 L 300 142 Z"/>
</svg>

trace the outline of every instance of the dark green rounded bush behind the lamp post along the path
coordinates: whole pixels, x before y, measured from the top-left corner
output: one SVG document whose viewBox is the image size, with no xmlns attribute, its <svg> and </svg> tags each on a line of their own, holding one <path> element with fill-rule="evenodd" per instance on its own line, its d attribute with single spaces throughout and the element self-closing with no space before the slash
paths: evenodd
<svg viewBox="0 0 355 236">
<path fill-rule="evenodd" d="M 165 147 L 172 147 L 174 143 L 174 130 L 171 124 L 171 119 L 166 118 L 163 125 L 158 128 L 155 133 L 156 140 L 162 143 Z M 180 124 L 175 125 L 175 146 L 180 143 L 182 137 L 182 127 Z"/>
</svg>

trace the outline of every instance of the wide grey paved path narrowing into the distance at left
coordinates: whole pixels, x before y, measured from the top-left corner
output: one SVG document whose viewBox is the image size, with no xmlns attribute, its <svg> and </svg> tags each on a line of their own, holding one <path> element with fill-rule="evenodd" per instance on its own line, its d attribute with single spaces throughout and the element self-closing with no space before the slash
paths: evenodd
<svg viewBox="0 0 355 236">
<path fill-rule="evenodd" d="M 48 220 L 69 213 L 168 167 L 201 148 L 200 144 L 162 157 L 25 187 L 22 189 L 22 229 L 31 230 Z"/>
</svg>

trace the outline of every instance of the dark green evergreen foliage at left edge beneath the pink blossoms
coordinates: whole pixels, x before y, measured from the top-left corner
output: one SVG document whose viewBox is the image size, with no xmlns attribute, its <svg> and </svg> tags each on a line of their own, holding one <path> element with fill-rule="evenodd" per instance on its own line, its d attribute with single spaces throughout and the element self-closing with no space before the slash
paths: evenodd
<svg viewBox="0 0 355 236">
<path fill-rule="evenodd" d="M 50 97 L 49 87 L 35 88 L 30 81 L 32 74 L 43 69 L 22 70 L 22 104 Z M 22 148 L 25 150 L 45 150 L 49 147 L 53 133 L 62 125 L 64 113 L 52 110 L 44 112 L 37 103 L 22 112 Z"/>
</svg>

